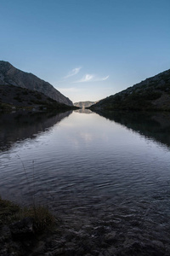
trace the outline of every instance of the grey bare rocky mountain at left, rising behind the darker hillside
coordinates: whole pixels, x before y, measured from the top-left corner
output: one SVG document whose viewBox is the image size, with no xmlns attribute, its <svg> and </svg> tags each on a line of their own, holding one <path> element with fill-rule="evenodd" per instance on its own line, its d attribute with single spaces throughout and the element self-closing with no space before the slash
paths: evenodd
<svg viewBox="0 0 170 256">
<path fill-rule="evenodd" d="M 53 85 L 37 78 L 32 73 L 26 73 L 13 67 L 7 61 L 0 61 L 0 84 L 12 84 L 29 90 L 37 90 L 56 102 L 73 105 L 71 100 L 62 95 Z"/>
</svg>

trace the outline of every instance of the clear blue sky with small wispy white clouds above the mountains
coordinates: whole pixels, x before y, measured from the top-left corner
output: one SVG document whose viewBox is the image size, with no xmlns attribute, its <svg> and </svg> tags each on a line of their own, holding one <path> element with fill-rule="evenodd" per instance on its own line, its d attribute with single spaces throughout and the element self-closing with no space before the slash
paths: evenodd
<svg viewBox="0 0 170 256">
<path fill-rule="evenodd" d="M 0 60 L 97 101 L 170 68 L 169 0 L 0 0 Z"/>
</svg>

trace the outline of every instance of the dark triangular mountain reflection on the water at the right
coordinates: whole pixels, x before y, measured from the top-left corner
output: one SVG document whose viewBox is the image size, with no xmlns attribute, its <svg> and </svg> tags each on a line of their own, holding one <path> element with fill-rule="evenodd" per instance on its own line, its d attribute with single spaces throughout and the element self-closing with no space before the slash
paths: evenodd
<svg viewBox="0 0 170 256">
<path fill-rule="evenodd" d="M 170 113 L 99 111 L 99 115 L 170 147 Z"/>
</svg>

